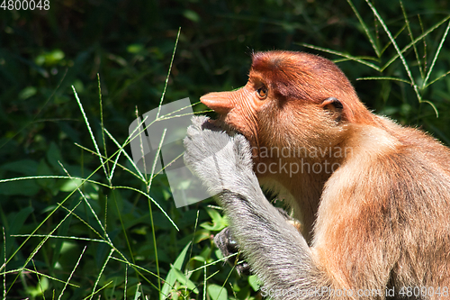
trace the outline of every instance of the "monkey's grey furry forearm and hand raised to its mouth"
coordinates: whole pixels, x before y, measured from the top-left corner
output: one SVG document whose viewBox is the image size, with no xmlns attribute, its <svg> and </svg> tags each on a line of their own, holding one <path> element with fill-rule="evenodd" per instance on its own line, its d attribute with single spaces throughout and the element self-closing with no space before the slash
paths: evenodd
<svg viewBox="0 0 450 300">
<path fill-rule="evenodd" d="M 264 283 L 263 295 L 326 298 L 317 289 L 329 286 L 328 280 L 314 263 L 307 242 L 259 187 L 247 140 L 240 134 L 229 136 L 206 117 L 194 117 L 184 147 L 186 165 L 211 195 L 218 195 L 239 249 Z"/>
</svg>

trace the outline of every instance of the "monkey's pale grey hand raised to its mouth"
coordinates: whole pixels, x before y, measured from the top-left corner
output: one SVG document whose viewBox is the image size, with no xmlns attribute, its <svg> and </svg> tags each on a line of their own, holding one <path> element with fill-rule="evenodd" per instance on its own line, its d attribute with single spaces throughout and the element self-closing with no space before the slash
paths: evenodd
<svg viewBox="0 0 450 300">
<path fill-rule="evenodd" d="M 202 180 L 211 195 L 224 190 L 240 192 L 257 180 L 250 144 L 241 134 L 228 134 L 206 116 L 193 116 L 184 139 L 184 163 Z"/>
</svg>

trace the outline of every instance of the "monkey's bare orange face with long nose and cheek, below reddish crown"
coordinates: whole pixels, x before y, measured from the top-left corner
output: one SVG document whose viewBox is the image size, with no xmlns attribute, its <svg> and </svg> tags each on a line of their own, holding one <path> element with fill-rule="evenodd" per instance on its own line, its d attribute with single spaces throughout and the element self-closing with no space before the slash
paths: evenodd
<svg viewBox="0 0 450 300">
<path fill-rule="evenodd" d="M 338 100 L 333 98 L 318 105 L 287 98 L 265 79 L 252 71 L 246 86 L 203 95 L 201 101 L 219 114 L 216 122 L 220 127 L 242 133 L 250 141 L 255 163 L 280 159 L 262 154 L 269 149 L 311 149 L 323 143 L 329 147 L 337 136 L 338 116 L 329 114 L 332 109 L 326 110 L 324 105 L 331 107 Z"/>
</svg>

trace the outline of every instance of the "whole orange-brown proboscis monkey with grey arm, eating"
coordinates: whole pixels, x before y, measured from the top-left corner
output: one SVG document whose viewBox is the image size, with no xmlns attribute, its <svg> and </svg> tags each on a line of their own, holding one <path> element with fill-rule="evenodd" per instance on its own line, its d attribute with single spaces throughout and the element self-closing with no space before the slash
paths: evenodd
<svg viewBox="0 0 450 300">
<path fill-rule="evenodd" d="M 372 114 L 334 63 L 302 52 L 256 53 L 246 86 L 201 101 L 219 119 L 193 118 L 184 160 L 218 195 L 262 295 L 449 298 L 445 146 Z"/>
</svg>

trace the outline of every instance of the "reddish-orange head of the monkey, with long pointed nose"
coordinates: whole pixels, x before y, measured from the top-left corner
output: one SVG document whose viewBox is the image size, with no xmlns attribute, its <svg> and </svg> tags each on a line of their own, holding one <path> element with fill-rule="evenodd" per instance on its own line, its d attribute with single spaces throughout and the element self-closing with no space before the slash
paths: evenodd
<svg viewBox="0 0 450 300">
<path fill-rule="evenodd" d="M 347 123 L 374 120 L 333 62 L 302 52 L 258 52 L 246 86 L 200 100 L 246 136 L 255 156 L 261 147 L 334 146 Z"/>
</svg>

